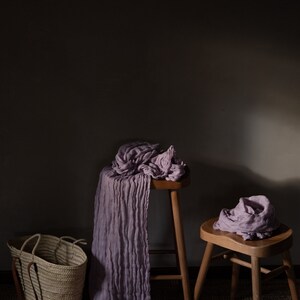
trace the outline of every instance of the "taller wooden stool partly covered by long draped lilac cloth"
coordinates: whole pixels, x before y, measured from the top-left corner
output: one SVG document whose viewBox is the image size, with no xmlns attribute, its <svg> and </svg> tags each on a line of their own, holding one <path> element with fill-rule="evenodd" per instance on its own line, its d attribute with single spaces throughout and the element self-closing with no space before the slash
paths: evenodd
<svg viewBox="0 0 300 300">
<path fill-rule="evenodd" d="M 186 187 L 190 183 L 189 176 L 184 176 L 180 181 L 155 180 L 151 181 L 151 188 L 157 190 L 167 190 L 170 197 L 173 228 L 176 242 L 175 250 L 150 250 L 150 254 L 169 253 L 176 254 L 179 264 L 179 275 L 155 275 L 151 276 L 151 280 L 174 280 L 178 279 L 182 282 L 183 295 L 185 300 L 191 299 L 189 276 L 185 252 L 183 226 L 181 221 L 179 190 Z"/>
</svg>

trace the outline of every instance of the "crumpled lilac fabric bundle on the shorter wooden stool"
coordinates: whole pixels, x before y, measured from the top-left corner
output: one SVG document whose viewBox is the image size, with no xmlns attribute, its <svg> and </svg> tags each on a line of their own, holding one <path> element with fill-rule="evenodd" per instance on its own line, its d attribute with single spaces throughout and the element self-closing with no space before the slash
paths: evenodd
<svg viewBox="0 0 300 300">
<path fill-rule="evenodd" d="M 236 233 L 244 240 L 255 240 L 272 236 L 279 225 L 269 199 L 258 195 L 240 198 L 233 209 L 222 209 L 213 228 Z"/>
</svg>

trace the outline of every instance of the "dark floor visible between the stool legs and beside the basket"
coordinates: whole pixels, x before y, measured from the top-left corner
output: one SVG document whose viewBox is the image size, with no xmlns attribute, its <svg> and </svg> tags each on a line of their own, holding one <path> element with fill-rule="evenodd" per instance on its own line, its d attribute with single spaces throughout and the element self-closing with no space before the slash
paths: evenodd
<svg viewBox="0 0 300 300">
<path fill-rule="evenodd" d="M 194 281 L 191 282 L 193 290 Z M 299 293 L 300 285 L 298 282 Z M 207 279 L 201 300 L 228 300 L 230 281 L 226 279 Z M 14 286 L 12 284 L 0 284 L 0 299 L 17 299 Z M 152 300 L 181 300 L 183 299 L 180 281 L 152 281 L 151 282 Z M 241 279 L 239 284 L 238 300 L 250 300 L 251 282 Z M 263 284 L 263 300 L 283 300 L 291 299 L 286 279 L 273 279 Z M 84 300 L 88 300 L 84 297 Z"/>
</svg>

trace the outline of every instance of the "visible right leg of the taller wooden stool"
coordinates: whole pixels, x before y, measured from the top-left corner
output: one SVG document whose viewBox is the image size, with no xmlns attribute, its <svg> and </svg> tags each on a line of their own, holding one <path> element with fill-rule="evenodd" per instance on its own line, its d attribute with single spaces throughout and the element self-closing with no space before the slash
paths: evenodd
<svg viewBox="0 0 300 300">
<path fill-rule="evenodd" d="M 178 192 L 176 190 L 171 190 L 170 198 L 172 204 L 172 213 L 173 213 L 173 220 L 174 220 L 180 274 L 182 278 L 183 295 L 185 300 L 190 300 L 191 299 L 190 285 L 189 285 L 189 276 L 188 276 L 188 269 L 187 269 L 187 262 L 186 262 L 184 234 L 183 234 L 183 226 L 181 222 L 181 211 L 180 211 Z"/>
</svg>

